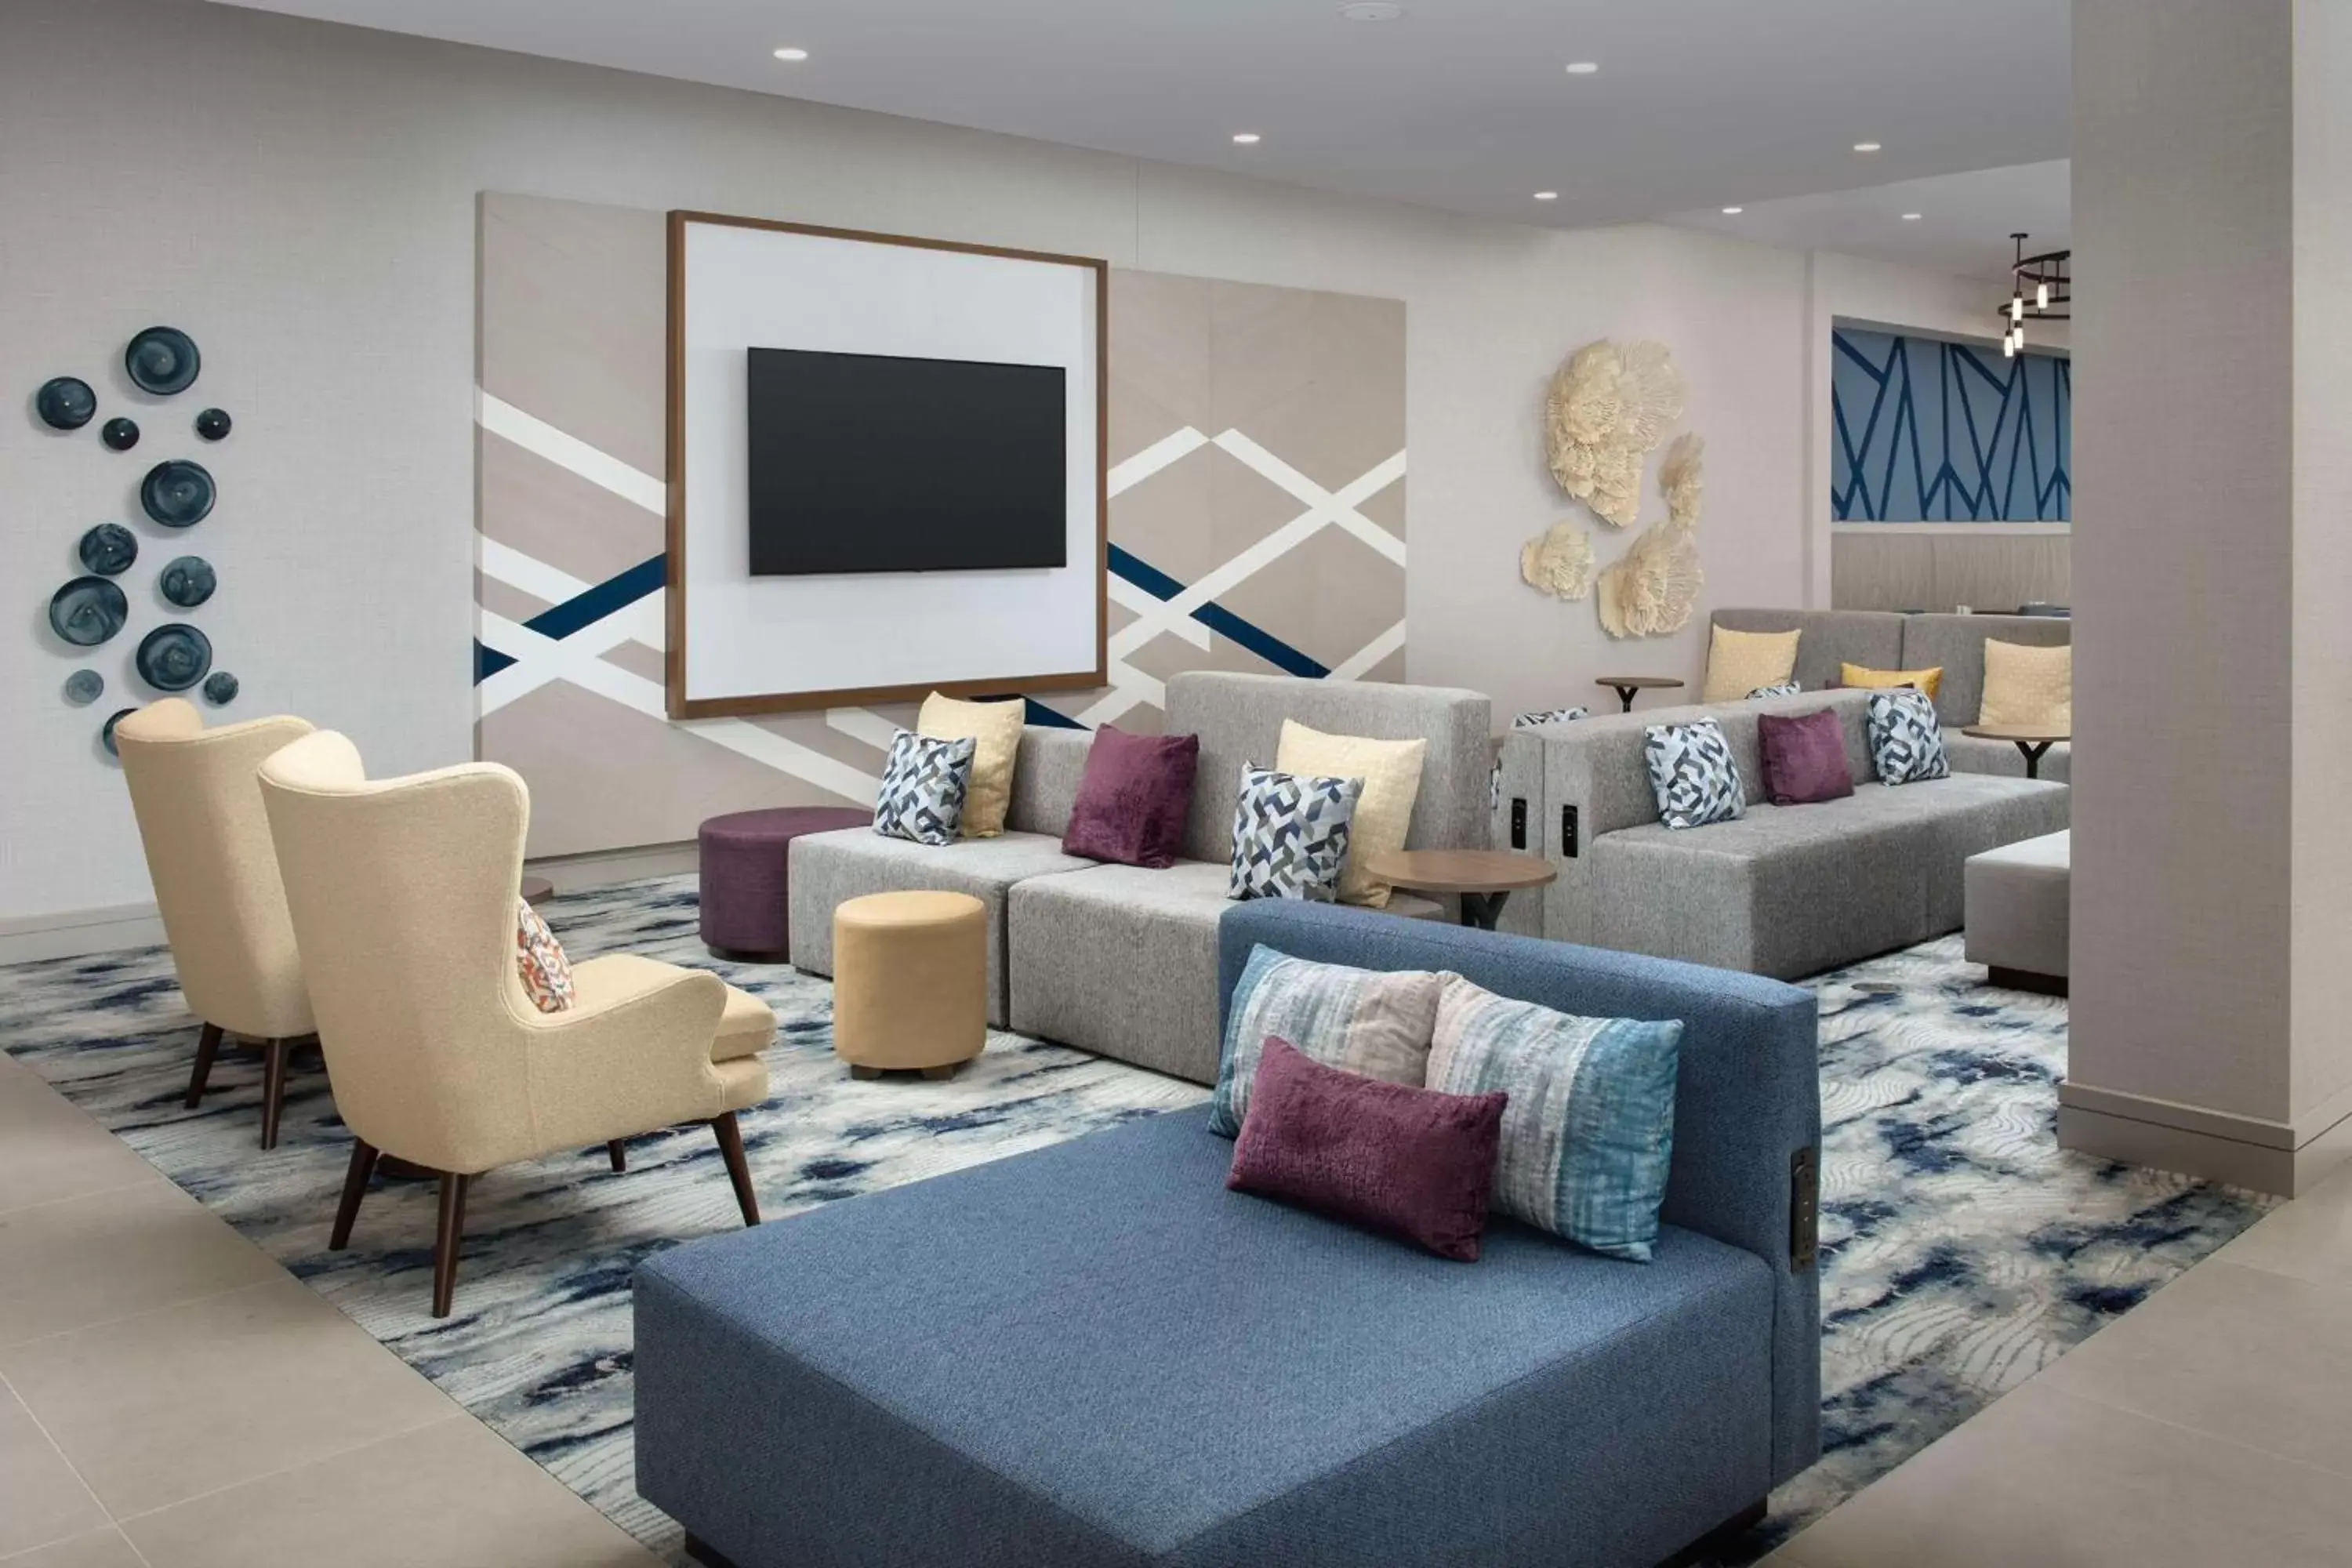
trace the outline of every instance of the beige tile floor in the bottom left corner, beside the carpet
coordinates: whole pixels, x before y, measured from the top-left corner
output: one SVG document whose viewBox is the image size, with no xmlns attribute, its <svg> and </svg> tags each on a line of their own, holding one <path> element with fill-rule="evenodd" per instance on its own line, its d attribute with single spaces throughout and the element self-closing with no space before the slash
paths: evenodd
<svg viewBox="0 0 2352 1568">
<path fill-rule="evenodd" d="M 652 1568 L 0 1053 L 5 1568 Z"/>
</svg>

